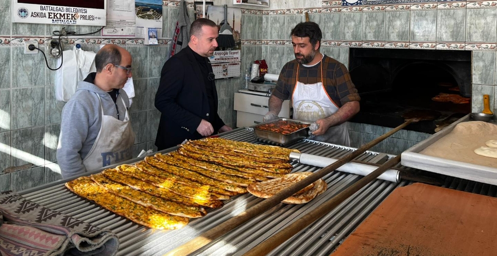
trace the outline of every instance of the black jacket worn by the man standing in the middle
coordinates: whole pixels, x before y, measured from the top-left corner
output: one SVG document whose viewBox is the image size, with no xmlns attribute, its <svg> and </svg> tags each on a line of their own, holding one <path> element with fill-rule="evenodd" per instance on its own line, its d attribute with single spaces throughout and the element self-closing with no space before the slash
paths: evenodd
<svg viewBox="0 0 497 256">
<path fill-rule="evenodd" d="M 181 50 L 164 63 L 160 84 L 155 94 L 155 108 L 160 111 L 160 122 L 155 145 L 163 150 L 185 139 L 203 138 L 197 132 L 202 119 L 209 121 L 214 133 L 224 125 L 217 114 L 217 91 L 214 86 L 215 113 L 210 108 L 205 82 L 190 47 Z M 209 65 L 209 72 L 212 67 Z"/>
</svg>

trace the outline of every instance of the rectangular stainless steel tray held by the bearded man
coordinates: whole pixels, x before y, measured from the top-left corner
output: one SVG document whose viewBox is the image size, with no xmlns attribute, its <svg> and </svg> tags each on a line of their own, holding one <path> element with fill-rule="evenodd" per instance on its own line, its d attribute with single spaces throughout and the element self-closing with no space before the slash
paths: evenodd
<svg viewBox="0 0 497 256">
<path fill-rule="evenodd" d="M 265 131 L 265 130 L 260 130 L 257 129 L 257 126 L 262 125 L 262 124 L 267 124 L 267 123 L 273 123 L 277 121 L 292 121 L 296 123 L 305 123 L 305 124 L 310 124 L 310 122 L 304 122 L 304 121 L 297 121 L 289 118 L 278 118 L 275 120 L 263 122 L 260 124 L 257 124 L 253 126 L 254 129 L 254 136 L 263 142 L 279 145 L 279 146 L 285 146 L 288 145 L 292 142 L 303 140 L 309 136 L 309 127 L 305 127 L 302 129 L 299 129 L 293 133 L 290 134 L 281 134 L 281 133 L 275 133 L 271 131 Z"/>
</svg>

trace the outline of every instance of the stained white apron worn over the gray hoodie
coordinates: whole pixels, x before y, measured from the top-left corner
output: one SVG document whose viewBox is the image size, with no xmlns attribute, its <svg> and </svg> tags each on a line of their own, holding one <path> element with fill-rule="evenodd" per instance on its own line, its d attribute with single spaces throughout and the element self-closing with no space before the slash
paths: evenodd
<svg viewBox="0 0 497 256">
<path fill-rule="evenodd" d="M 90 152 L 83 159 L 87 172 L 131 159 L 131 148 L 135 142 L 128 110 L 122 121 L 113 116 L 105 116 L 100 95 L 97 96 L 100 101 L 102 125 Z M 121 101 L 126 106 L 122 97 Z"/>
</svg>

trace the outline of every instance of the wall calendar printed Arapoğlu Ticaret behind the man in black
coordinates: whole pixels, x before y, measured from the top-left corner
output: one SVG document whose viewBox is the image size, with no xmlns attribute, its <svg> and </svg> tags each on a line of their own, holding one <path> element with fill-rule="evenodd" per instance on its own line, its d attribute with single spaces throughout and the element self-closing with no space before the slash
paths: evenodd
<svg viewBox="0 0 497 256">
<path fill-rule="evenodd" d="M 215 79 L 240 76 L 240 50 L 215 51 L 209 60 Z"/>
</svg>

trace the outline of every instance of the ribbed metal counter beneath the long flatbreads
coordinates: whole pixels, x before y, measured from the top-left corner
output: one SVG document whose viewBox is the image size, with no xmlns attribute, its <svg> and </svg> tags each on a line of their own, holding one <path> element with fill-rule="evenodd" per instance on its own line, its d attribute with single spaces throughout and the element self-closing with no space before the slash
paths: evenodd
<svg viewBox="0 0 497 256">
<path fill-rule="evenodd" d="M 226 139 L 246 141 L 255 144 L 264 144 L 257 141 L 250 128 L 236 129 L 220 136 Z M 354 148 L 337 146 L 302 140 L 288 145 L 302 153 L 314 154 L 325 157 L 340 158 L 354 150 Z M 175 150 L 162 151 L 168 152 Z M 366 152 L 357 160 L 379 163 L 389 158 L 385 154 Z M 143 158 L 132 159 L 132 163 Z M 316 172 L 320 168 L 294 163 L 293 172 Z M 109 166 L 113 167 L 113 166 Z M 403 169 L 407 167 L 397 166 Z M 96 171 L 99 172 L 99 171 Z M 96 173 L 95 172 L 95 173 Z M 235 228 L 223 237 L 210 243 L 195 255 L 241 255 L 250 250 L 273 233 L 281 230 L 300 216 L 306 214 L 337 195 L 340 191 L 358 181 L 361 177 L 353 174 L 335 171 L 323 177 L 328 184 L 328 189 L 322 195 L 307 204 L 288 205 L 278 204 L 256 218 Z M 58 210 L 79 220 L 88 222 L 100 228 L 108 228 L 119 237 L 120 246 L 117 255 L 162 255 L 169 250 L 197 237 L 202 232 L 215 227 L 247 208 L 254 206 L 263 199 L 250 194 L 232 197 L 225 201 L 222 208 L 209 210 L 208 215 L 199 219 L 191 219 L 184 228 L 178 230 L 155 230 L 135 224 L 126 218 L 117 216 L 112 212 L 99 207 L 85 199 L 71 193 L 64 186 L 64 181 L 58 181 L 44 186 L 20 191 L 29 200 Z M 468 189 L 468 186 L 477 193 L 487 193 L 495 196 L 495 186 L 475 183 L 461 185 L 460 180 L 450 178 L 446 186 L 456 187 L 459 190 Z M 304 228 L 284 244 L 275 249 L 271 255 L 329 255 L 348 234 L 353 231 L 372 210 L 374 210 L 398 186 L 407 185 L 408 182 L 394 183 L 383 180 L 371 182 L 340 204 L 326 216 Z M 458 187 L 460 186 L 460 187 Z M 480 189 L 480 190 L 479 190 Z M 473 193 L 474 193 L 473 191 Z"/>
</svg>

